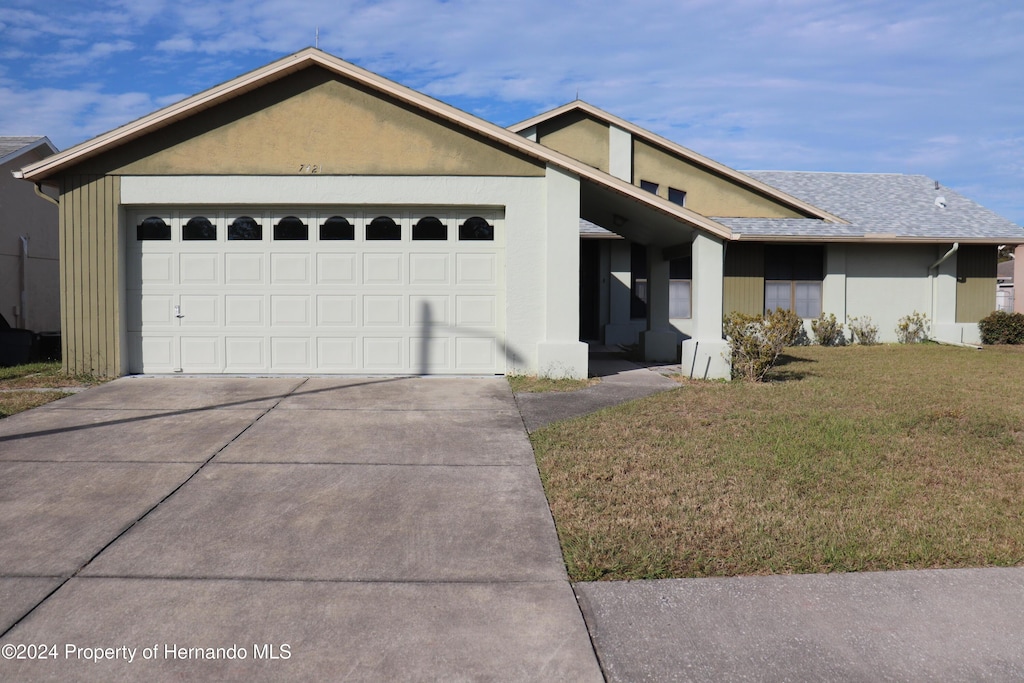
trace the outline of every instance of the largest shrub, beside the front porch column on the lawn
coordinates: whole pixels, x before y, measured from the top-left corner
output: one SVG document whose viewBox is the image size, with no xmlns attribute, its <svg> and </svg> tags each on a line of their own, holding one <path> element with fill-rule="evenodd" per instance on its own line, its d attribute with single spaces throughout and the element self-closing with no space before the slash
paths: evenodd
<svg viewBox="0 0 1024 683">
<path fill-rule="evenodd" d="M 723 330 L 729 342 L 732 377 L 760 382 L 772 369 L 782 349 L 793 345 L 804 324 L 793 311 L 776 308 L 764 315 L 732 312 Z"/>
</svg>

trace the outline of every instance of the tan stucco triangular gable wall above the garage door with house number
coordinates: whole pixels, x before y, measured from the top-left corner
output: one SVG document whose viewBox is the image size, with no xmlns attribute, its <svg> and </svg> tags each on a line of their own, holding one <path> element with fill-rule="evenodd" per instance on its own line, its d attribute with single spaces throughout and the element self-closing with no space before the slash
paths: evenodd
<svg viewBox="0 0 1024 683">
<path fill-rule="evenodd" d="M 308 68 L 134 140 L 77 172 L 543 176 L 543 164 Z"/>
</svg>

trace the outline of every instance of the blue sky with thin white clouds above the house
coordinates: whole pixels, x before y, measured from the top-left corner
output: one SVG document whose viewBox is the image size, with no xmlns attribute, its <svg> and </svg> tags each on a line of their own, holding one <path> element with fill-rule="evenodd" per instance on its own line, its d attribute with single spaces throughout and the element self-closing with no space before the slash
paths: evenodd
<svg viewBox="0 0 1024 683">
<path fill-rule="evenodd" d="M 313 44 L 501 125 L 580 97 L 738 169 L 922 173 L 1024 224 L 1020 0 L 0 0 L 66 148 Z"/>
</svg>

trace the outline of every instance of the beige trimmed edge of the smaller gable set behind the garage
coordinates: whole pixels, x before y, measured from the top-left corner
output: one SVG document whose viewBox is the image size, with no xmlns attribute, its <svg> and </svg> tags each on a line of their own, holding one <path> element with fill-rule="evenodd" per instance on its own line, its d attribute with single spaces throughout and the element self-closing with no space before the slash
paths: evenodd
<svg viewBox="0 0 1024 683">
<path fill-rule="evenodd" d="M 550 112 L 545 112 L 544 114 L 539 114 L 536 117 L 526 119 L 517 124 L 509 126 L 509 130 L 515 133 L 522 133 L 527 128 L 536 126 L 538 124 L 550 121 L 552 119 L 557 119 L 558 117 L 570 113 L 570 112 L 581 112 L 590 117 L 602 121 L 606 124 L 622 128 L 623 130 L 629 132 L 634 137 L 638 137 L 647 142 L 653 143 L 664 150 L 668 151 L 670 154 L 680 157 L 681 159 L 694 164 L 696 166 L 702 167 L 708 171 L 711 171 L 717 175 L 723 176 L 732 180 L 733 182 L 742 185 L 749 189 L 753 189 L 761 195 L 770 197 L 771 199 L 788 206 L 801 213 L 807 213 L 812 216 L 817 216 L 819 219 L 835 221 L 838 223 L 845 222 L 840 216 L 833 215 L 828 211 L 823 211 L 820 207 L 814 206 L 813 203 L 807 202 L 804 199 L 794 197 L 779 187 L 772 186 L 768 183 L 762 182 L 761 180 L 751 177 L 748 174 L 737 171 L 733 168 L 729 168 L 725 164 L 719 163 L 714 159 L 705 157 L 703 155 L 697 154 L 688 147 L 684 147 L 678 142 L 673 142 L 667 137 L 662 137 L 656 133 L 652 133 L 649 130 L 641 128 L 636 124 L 630 123 L 625 119 L 620 119 L 613 114 L 609 114 L 604 110 L 594 106 L 593 104 L 586 102 L 582 99 L 577 99 L 561 106 L 557 106 Z"/>
</svg>

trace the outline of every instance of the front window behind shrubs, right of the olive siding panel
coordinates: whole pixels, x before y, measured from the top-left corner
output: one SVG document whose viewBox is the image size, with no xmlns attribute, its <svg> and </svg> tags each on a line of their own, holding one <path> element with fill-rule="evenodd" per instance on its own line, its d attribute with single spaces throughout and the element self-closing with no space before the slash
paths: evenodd
<svg viewBox="0 0 1024 683">
<path fill-rule="evenodd" d="M 800 317 L 821 314 L 824 249 L 819 245 L 765 248 L 765 312 L 781 308 Z"/>
</svg>

